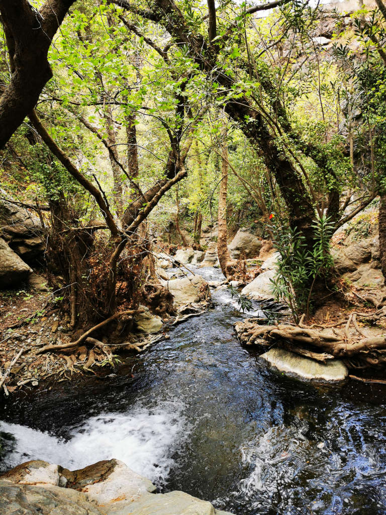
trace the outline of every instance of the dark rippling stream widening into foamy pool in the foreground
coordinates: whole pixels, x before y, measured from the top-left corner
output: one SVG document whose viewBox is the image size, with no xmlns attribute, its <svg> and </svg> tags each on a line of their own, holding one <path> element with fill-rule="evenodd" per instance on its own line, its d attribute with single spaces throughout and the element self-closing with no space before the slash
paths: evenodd
<svg viewBox="0 0 386 515">
<path fill-rule="evenodd" d="M 245 315 L 227 290 L 213 299 L 117 375 L 6 404 L 3 469 L 118 458 L 160 491 L 235 514 L 386 513 L 385 392 L 315 388 L 268 370 L 235 338 Z"/>
</svg>

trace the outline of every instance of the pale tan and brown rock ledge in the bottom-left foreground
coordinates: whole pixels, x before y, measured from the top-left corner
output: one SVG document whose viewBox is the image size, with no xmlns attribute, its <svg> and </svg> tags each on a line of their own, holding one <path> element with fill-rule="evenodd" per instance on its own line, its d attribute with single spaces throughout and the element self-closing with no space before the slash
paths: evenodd
<svg viewBox="0 0 386 515">
<path fill-rule="evenodd" d="M 115 459 L 69 471 L 28 461 L 0 477 L 0 515 L 231 515 L 155 486 Z"/>
</svg>

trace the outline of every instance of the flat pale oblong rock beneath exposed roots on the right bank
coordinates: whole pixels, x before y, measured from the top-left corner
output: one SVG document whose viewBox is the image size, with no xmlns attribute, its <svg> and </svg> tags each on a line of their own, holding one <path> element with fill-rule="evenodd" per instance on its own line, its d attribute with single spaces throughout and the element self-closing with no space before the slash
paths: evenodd
<svg viewBox="0 0 386 515">
<path fill-rule="evenodd" d="M 300 356 L 285 349 L 271 349 L 260 356 L 273 368 L 286 375 L 308 381 L 344 381 L 348 375 L 346 365 L 339 359 L 321 363 L 305 356 Z"/>
</svg>

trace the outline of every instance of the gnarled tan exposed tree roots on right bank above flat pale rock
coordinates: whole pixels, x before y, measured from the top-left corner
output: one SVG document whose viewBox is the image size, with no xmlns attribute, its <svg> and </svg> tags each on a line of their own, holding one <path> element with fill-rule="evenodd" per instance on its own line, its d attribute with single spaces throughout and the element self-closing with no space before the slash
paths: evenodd
<svg viewBox="0 0 386 515">
<path fill-rule="evenodd" d="M 348 368 L 386 368 L 386 336 L 366 336 L 358 320 L 377 322 L 386 315 L 383 306 L 375 313 L 351 313 L 347 319 L 330 325 L 277 323 L 259 325 L 247 319 L 235 325 L 237 337 L 244 345 L 263 349 L 273 344 L 318 361 L 343 359 Z"/>
</svg>

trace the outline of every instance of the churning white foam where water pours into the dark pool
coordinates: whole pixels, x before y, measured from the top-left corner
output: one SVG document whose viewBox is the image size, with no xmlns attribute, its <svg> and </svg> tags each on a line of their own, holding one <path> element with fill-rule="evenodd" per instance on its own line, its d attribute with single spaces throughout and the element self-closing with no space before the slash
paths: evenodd
<svg viewBox="0 0 386 515">
<path fill-rule="evenodd" d="M 11 468 L 30 459 L 42 459 L 75 470 L 116 458 L 160 485 L 174 465 L 173 452 L 188 433 L 183 407 L 180 402 L 166 402 L 155 408 L 136 406 L 125 414 L 101 414 L 76 427 L 67 441 L 30 427 L 0 422 L 0 431 L 15 438 L 15 448 L 5 456 L 5 463 Z"/>
</svg>

